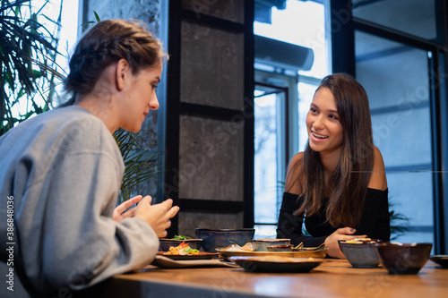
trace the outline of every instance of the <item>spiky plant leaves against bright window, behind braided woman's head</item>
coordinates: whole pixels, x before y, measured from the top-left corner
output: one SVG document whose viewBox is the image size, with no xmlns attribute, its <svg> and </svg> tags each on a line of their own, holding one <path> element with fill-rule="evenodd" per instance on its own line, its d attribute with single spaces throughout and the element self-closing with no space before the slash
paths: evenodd
<svg viewBox="0 0 448 298">
<path fill-rule="evenodd" d="M 0 135 L 16 123 L 50 108 L 55 84 L 64 76 L 56 71 L 60 13 L 52 21 L 30 0 L 2 0 L 0 7 Z M 56 26 L 50 32 L 39 22 L 46 18 Z"/>
</svg>

